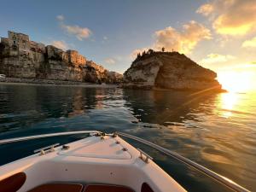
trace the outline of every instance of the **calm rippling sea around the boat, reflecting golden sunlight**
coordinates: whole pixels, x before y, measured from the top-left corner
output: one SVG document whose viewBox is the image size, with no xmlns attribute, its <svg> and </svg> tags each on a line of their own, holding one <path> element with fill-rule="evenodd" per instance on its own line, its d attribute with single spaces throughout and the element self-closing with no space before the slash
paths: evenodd
<svg viewBox="0 0 256 192">
<path fill-rule="evenodd" d="M 0 84 L 0 139 L 57 131 L 124 131 L 195 160 L 256 189 L 256 93 L 196 95 L 166 90 L 121 90 Z M 0 164 L 52 143 L 53 137 L 0 146 Z M 189 191 L 229 191 L 212 179 L 143 148 Z"/>
</svg>

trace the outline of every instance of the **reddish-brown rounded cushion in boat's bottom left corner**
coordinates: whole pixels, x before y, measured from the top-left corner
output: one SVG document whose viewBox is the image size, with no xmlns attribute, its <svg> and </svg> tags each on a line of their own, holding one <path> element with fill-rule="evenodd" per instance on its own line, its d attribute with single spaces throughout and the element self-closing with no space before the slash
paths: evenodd
<svg viewBox="0 0 256 192">
<path fill-rule="evenodd" d="M 4 178 L 0 181 L 0 192 L 16 192 L 26 181 L 26 174 L 24 172 L 16 173 L 10 177 Z"/>
</svg>

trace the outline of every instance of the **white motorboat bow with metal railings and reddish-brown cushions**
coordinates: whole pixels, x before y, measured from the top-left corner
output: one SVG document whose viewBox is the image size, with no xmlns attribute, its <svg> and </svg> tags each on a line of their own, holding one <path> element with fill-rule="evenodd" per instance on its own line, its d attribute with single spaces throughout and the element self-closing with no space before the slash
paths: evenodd
<svg viewBox="0 0 256 192">
<path fill-rule="evenodd" d="M 192 166 L 234 191 L 248 191 L 230 179 L 212 172 L 159 145 L 123 132 L 69 131 L 0 140 L 0 144 L 89 134 L 73 143 L 58 143 L 35 150 L 35 154 L 0 166 L 0 192 L 184 192 L 177 181 L 154 163 L 136 140 Z"/>
</svg>

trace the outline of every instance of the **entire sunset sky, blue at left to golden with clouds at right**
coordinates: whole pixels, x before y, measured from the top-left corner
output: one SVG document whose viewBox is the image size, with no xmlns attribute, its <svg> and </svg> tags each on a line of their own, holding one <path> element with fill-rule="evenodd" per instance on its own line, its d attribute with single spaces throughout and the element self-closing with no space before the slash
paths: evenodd
<svg viewBox="0 0 256 192">
<path fill-rule="evenodd" d="M 256 89 L 255 0 L 0 3 L 1 37 L 8 30 L 23 32 L 34 41 L 77 49 L 119 73 L 138 51 L 165 47 L 211 68 L 224 84 L 244 79 L 240 87 Z"/>
</svg>

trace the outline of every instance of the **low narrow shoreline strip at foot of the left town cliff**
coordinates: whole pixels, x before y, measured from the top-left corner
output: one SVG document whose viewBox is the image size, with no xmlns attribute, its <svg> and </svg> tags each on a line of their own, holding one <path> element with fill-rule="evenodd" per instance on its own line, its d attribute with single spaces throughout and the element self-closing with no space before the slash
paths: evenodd
<svg viewBox="0 0 256 192">
<path fill-rule="evenodd" d="M 20 79 L 20 78 L 0 79 L 0 84 L 99 87 L 99 88 L 117 88 L 118 87 L 118 84 L 93 84 L 93 83 L 85 83 L 85 82 L 78 82 L 78 81 L 62 81 L 62 80 L 49 80 L 49 79 Z"/>
</svg>

